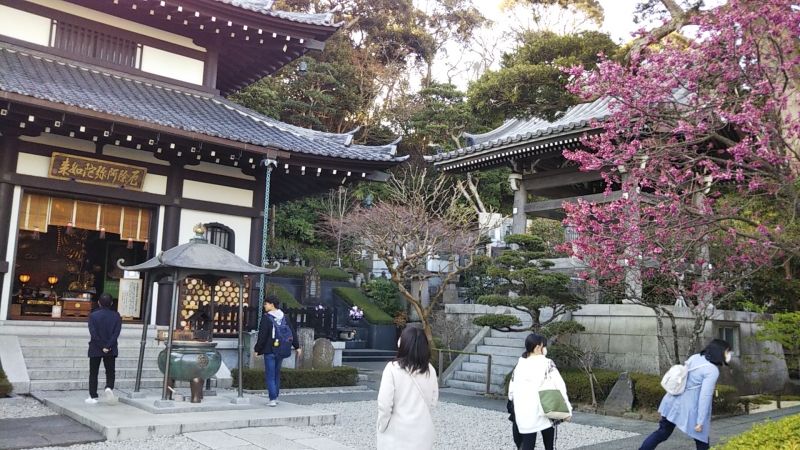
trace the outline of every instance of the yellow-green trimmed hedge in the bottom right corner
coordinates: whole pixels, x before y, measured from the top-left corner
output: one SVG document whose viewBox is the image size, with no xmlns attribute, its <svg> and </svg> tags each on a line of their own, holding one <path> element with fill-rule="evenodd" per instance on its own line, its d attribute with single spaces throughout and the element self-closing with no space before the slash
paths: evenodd
<svg viewBox="0 0 800 450">
<path fill-rule="evenodd" d="M 730 438 L 715 450 L 800 450 L 800 414 L 753 426 L 750 431 Z"/>
</svg>

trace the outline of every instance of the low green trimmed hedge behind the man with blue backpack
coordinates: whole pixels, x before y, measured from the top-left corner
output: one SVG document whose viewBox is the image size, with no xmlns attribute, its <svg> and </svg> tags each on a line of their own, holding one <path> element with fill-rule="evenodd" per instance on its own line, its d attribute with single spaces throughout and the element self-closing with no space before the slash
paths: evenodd
<svg viewBox="0 0 800 450">
<path fill-rule="evenodd" d="M 239 369 L 231 369 L 233 386 L 239 385 Z M 281 388 L 298 389 L 314 387 L 355 386 L 358 369 L 341 366 L 330 369 L 281 369 Z M 264 370 L 244 369 L 242 385 L 245 389 L 264 390 Z"/>
</svg>

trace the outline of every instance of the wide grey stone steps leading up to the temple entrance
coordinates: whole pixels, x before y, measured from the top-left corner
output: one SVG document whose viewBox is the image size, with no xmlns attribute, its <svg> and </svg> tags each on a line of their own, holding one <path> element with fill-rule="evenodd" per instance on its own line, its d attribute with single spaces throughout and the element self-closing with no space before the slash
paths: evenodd
<svg viewBox="0 0 800 450">
<path fill-rule="evenodd" d="M 116 360 L 117 389 L 134 387 L 141 333 L 140 325 L 123 325 Z M 163 382 L 157 357 L 164 346 L 156 345 L 154 335 L 155 329 L 150 328 L 142 367 L 142 388 L 157 388 Z M 24 364 L 30 381 L 29 392 L 89 389 L 89 332 L 85 323 L 5 322 L 0 326 L 0 337 L 5 346 L 16 346 L 16 349 L 0 350 L 3 365 Z M 98 386 L 99 389 L 105 386 L 102 364 Z M 16 386 L 15 391 L 18 391 Z"/>
</svg>

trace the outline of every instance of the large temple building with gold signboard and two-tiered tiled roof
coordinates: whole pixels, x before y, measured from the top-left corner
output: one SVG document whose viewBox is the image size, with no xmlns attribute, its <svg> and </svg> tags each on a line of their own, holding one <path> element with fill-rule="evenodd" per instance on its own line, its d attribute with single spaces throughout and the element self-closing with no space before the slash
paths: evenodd
<svg viewBox="0 0 800 450">
<path fill-rule="evenodd" d="M 223 97 L 340 27 L 271 3 L 0 0 L 0 323 L 85 321 L 109 292 L 126 322 L 164 324 L 171 287 L 142 286 L 118 261 L 141 263 L 202 223 L 261 265 L 269 205 L 384 179 L 405 159 L 395 143 L 358 145 Z M 211 296 L 252 295 L 195 284 L 180 325 Z M 147 295 L 166 301 L 142 317 Z M 234 331 L 215 319 L 216 334 Z"/>
</svg>

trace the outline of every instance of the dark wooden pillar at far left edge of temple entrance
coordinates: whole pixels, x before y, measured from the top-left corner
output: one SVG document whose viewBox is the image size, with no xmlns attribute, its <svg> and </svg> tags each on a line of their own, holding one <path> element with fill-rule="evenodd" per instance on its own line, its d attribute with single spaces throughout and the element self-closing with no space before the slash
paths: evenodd
<svg viewBox="0 0 800 450">
<path fill-rule="evenodd" d="M 19 136 L 3 130 L 3 135 L 0 136 L 0 292 L 3 291 L 4 283 L 13 283 L 11 280 L 13 267 L 11 261 L 6 260 L 6 253 L 9 237 L 12 234 L 10 231 L 14 184 L 11 182 L 11 174 L 16 172 L 18 151 Z"/>
</svg>

